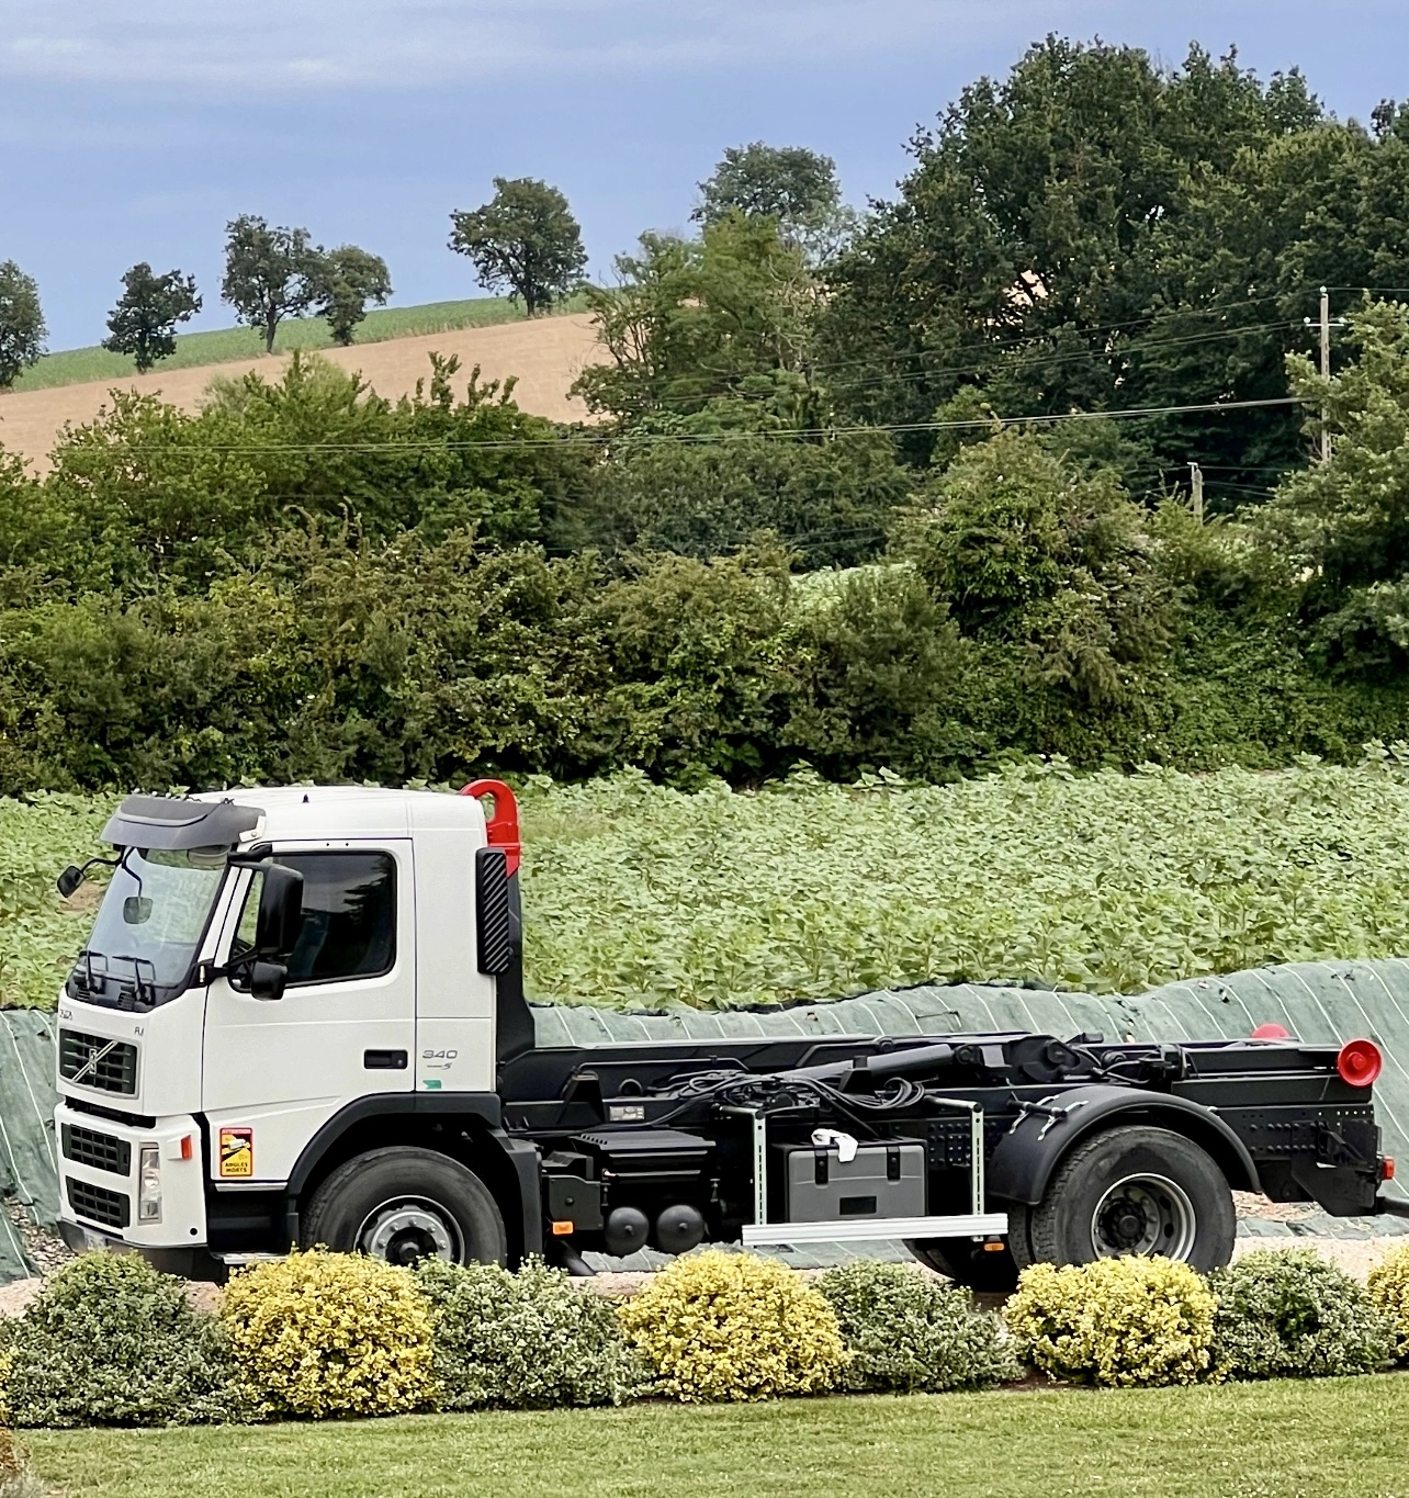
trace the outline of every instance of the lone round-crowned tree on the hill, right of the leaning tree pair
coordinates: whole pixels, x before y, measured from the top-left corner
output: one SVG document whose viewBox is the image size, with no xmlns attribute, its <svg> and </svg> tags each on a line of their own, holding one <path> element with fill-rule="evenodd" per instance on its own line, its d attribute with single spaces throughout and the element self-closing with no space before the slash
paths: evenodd
<svg viewBox="0 0 1409 1498">
<path fill-rule="evenodd" d="M 566 297 L 587 265 L 567 199 L 533 177 L 496 177 L 490 202 L 451 214 L 449 243 L 487 291 L 508 288 L 530 318 Z"/>
</svg>

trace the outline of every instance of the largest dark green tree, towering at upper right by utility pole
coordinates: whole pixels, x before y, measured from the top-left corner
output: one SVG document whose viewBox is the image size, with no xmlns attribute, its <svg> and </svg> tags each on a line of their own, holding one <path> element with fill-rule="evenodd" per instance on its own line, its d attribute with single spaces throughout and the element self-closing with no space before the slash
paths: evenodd
<svg viewBox="0 0 1409 1498">
<path fill-rule="evenodd" d="M 895 424 L 966 385 L 1000 416 L 1285 397 L 1318 285 L 1292 252 L 1345 243 L 1327 228 L 1354 198 L 1342 208 L 1327 174 L 1357 130 L 1298 73 L 1261 82 L 1234 54 L 1193 48 L 1171 70 L 1048 37 L 912 141 L 898 199 L 833 271 L 819 366 L 853 419 Z M 1297 428 L 1268 407 L 1142 434 L 1168 466 L 1265 485 Z M 922 433 L 907 443 L 928 455 Z"/>
</svg>

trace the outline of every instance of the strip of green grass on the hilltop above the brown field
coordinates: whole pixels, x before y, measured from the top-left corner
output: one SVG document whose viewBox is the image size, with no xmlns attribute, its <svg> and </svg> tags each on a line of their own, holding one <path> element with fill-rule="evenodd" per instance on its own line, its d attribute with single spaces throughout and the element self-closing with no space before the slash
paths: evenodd
<svg viewBox="0 0 1409 1498">
<path fill-rule="evenodd" d="M 579 312 L 579 303 L 566 303 L 563 312 Z M 485 328 L 496 322 L 523 318 L 523 306 L 508 297 L 475 297 L 469 301 L 428 301 L 419 307 L 386 307 L 367 313 L 356 333 L 358 343 L 385 343 L 388 339 L 413 339 L 425 333 L 451 333 L 457 328 Z M 276 354 L 292 349 L 331 349 L 328 325 L 317 318 L 295 318 L 280 324 Z M 222 328 L 216 333 L 183 333 L 177 352 L 157 370 L 198 369 L 253 360 L 264 354 L 264 339 L 255 328 Z M 45 355 L 16 380 L 15 389 L 52 389 L 55 385 L 81 385 L 85 380 L 121 379 L 136 366 L 121 354 L 102 348 L 67 349 Z"/>
</svg>

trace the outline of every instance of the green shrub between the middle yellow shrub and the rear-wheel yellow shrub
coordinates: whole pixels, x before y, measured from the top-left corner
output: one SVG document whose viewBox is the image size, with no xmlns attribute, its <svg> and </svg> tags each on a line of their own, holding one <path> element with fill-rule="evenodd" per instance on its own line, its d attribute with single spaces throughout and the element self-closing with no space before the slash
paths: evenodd
<svg viewBox="0 0 1409 1498">
<path fill-rule="evenodd" d="M 862 1260 L 818 1281 L 852 1354 L 845 1389 L 987 1389 L 1023 1366 L 997 1317 L 906 1264 Z"/>
</svg>

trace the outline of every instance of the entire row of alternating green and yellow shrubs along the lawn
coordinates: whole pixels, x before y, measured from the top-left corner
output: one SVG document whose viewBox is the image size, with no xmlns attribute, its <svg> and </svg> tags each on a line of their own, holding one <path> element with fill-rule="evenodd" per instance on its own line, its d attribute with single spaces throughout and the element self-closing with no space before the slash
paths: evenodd
<svg viewBox="0 0 1409 1498">
<path fill-rule="evenodd" d="M 259 1264 L 217 1312 L 138 1258 L 64 1266 L 0 1336 L 16 1426 L 328 1419 L 945 1392 L 1033 1368 L 1099 1386 L 1369 1374 L 1409 1357 L 1409 1248 L 1360 1285 L 1310 1249 L 1202 1276 L 1159 1258 L 1024 1272 L 1002 1315 L 906 1264 L 815 1282 L 719 1249 L 618 1302 L 530 1261 L 416 1270 L 313 1251 Z"/>
</svg>

